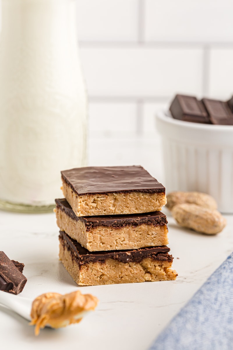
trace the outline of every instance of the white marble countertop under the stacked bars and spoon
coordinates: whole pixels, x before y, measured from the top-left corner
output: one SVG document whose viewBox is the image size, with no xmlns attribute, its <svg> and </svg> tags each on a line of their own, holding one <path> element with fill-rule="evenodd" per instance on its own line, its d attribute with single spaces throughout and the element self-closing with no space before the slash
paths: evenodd
<svg viewBox="0 0 233 350">
<path fill-rule="evenodd" d="M 100 142 L 98 149 L 90 154 L 89 163 L 92 165 L 113 163 L 98 158 L 98 150 L 104 145 L 102 142 L 102 146 Z M 139 145 L 136 141 L 134 144 L 129 142 L 128 146 L 127 154 L 130 157 L 133 153 L 133 160 L 119 153 L 114 164 L 144 165 L 160 180 L 156 175 L 159 173 L 162 177 L 158 162 L 156 167 L 151 162 L 154 160 L 154 141 L 140 140 Z M 108 144 L 108 152 L 114 152 L 114 147 L 114 142 Z M 146 156 L 143 150 L 148 151 Z M 0 250 L 5 251 L 10 259 L 24 262 L 24 274 L 28 278 L 23 292 L 16 297 L 34 299 L 45 292 L 69 293 L 81 288 L 82 293 L 92 293 L 100 300 L 96 311 L 79 324 L 59 330 L 44 329 L 38 337 L 34 336 L 34 329 L 27 321 L 0 306 L 2 348 L 148 349 L 172 317 L 233 251 L 233 215 L 226 218 L 228 224 L 223 232 L 205 236 L 179 228 L 168 216 L 169 247 L 174 257 L 173 266 L 179 274 L 176 281 L 79 287 L 58 259 L 59 230 L 54 214 L 1 211 Z"/>
</svg>

